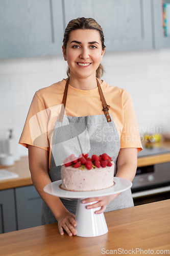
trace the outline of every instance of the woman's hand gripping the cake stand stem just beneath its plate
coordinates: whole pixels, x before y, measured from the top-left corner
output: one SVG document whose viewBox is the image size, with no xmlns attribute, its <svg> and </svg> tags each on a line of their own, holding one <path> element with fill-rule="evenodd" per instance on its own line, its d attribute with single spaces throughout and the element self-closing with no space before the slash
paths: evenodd
<svg viewBox="0 0 170 256">
<path fill-rule="evenodd" d="M 91 202 L 96 202 L 94 204 L 91 205 L 87 205 L 87 209 L 93 209 L 93 208 L 97 208 L 97 207 L 101 207 L 100 210 L 96 210 L 94 211 L 94 214 L 102 214 L 102 212 L 104 212 L 106 210 L 106 207 L 108 206 L 108 204 L 115 199 L 119 194 L 115 194 L 115 195 L 111 195 L 111 196 L 105 196 L 105 197 L 93 197 L 93 198 L 87 198 L 83 200 L 83 203 L 91 203 Z"/>
</svg>

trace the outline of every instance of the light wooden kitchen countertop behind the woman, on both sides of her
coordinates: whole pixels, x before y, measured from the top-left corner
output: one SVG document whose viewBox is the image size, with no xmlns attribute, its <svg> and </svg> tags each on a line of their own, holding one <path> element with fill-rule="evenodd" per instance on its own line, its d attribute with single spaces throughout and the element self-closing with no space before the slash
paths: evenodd
<svg viewBox="0 0 170 256">
<path fill-rule="evenodd" d="M 167 148 L 168 150 L 170 150 L 170 141 L 161 142 L 159 145 L 162 148 Z M 170 152 L 154 156 L 138 157 L 137 159 L 138 167 L 165 162 L 170 162 Z M 17 173 L 19 175 L 19 178 L 0 181 L 0 190 L 28 186 L 33 184 L 29 170 L 28 157 L 21 157 L 21 159 L 19 161 L 16 161 L 12 166 L 0 165 L 0 169 L 1 168 L 5 168 L 7 170 L 10 170 L 11 172 Z"/>
</svg>

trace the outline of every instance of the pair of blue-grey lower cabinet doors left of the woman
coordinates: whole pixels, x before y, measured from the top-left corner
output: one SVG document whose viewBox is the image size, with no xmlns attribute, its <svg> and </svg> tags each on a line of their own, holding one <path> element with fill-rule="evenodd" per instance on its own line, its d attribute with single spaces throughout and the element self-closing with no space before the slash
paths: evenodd
<svg viewBox="0 0 170 256">
<path fill-rule="evenodd" d="M 0 191 L 0 233 L 41 225 L 41 198 L 35 187 Z"/>
</svg>

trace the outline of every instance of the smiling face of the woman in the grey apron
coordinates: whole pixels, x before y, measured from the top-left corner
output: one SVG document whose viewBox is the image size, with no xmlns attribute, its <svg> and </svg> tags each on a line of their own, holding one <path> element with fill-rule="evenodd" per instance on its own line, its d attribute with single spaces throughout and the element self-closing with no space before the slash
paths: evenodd
<svg viewBox="0 0 170 256">
<path fill-rule="evenodd" d="M 67 60 L 70 68 L 70 77 L 87 78 L 95 77 L 102 60 L 104 51 L 100 33 L 93 29 L 78 29 L 71 31 L 67 42 L 66 50 L 64 47 L 63 56 Z"/>
</svg>

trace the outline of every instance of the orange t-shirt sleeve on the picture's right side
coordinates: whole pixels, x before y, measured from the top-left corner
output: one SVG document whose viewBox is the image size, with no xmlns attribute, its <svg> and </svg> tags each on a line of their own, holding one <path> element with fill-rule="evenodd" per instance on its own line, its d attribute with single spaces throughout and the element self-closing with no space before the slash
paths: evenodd
<svg viewBox="0 0 170 256">
<path fill-rule="evenodd" d="M 123 130 L 120 136 L 120 148 L 136 147 L 138 152 L 142 150 L 137 118 L 131 95 L 123 92 Z"/>
</svg>

